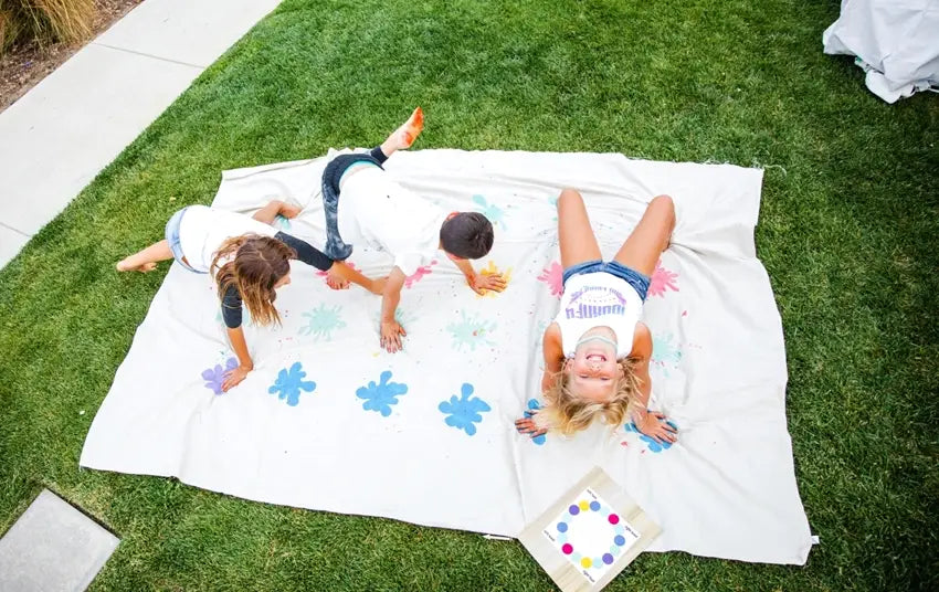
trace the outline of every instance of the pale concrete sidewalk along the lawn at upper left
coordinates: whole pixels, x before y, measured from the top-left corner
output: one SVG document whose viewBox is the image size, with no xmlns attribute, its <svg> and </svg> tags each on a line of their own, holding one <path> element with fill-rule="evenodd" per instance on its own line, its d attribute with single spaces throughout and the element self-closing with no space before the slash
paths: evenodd
<svg viewBox="0 0 939 592">
<path fill-rule="evenodd" d="M 0 113 L 0 267 L 281 0 L 146 0 Z"/>
</svg>

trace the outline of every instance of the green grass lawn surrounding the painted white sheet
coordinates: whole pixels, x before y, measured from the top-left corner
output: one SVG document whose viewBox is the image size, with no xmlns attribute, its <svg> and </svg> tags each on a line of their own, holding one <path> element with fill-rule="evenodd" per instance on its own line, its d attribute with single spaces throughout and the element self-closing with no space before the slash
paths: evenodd
<svg viewBox="0 0 939 592">
<path fill-rule="evenodd" d="M 220 171 L 369 145 L 421 105 L 419 148 L 767 168 L 757 247 L 822 543 L 804 568 L 646 553 L 610 590 L 938 589 L 939 97 L 888 106 L 822 54 L 837 12 L 286 0 L 0 272 L 0 531 L 50 487 L 123 540 L 94 590 L 551 588 L 516 542 L 78 468 L 163 275 L 114 263 L 208 203 Z"/>
</svg>

